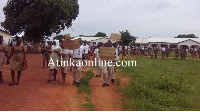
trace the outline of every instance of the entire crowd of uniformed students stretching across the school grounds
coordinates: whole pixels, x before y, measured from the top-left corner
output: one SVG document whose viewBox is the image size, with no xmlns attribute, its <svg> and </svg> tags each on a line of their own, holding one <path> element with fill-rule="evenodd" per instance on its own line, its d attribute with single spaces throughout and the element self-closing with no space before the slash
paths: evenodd
<svg viewBox="0 0 200 112">
<path fill-rule="evenodd" d="M 49 77 L 47 82 L 50 83 L 51 81 L 57 80 L 57 74 L 58 74 L 58 68 L 61 67 L 61 74 L 62 74 L 62 81 L 63 83 L 66 83 L 66 75 L 68 74 L 67 71 L 69 69 L 70 72 L 73 72 L 73 85 L 79 86 L 80 85 L 80 75 L 81 72 L 85 72 L 87 65 L 86 63 L 83 64 L 83 66 L 78 66 L 78 63 L 86 62 L 89 60 L 95 60 L 96 61 L 96 73 L 95 77 L 103 77 L 103 84 L 102 86 L 109 86 L 110 82 L 115 83 L 115 77 L 116 77 L 116 67 L 115 64 L 119 60 L 119 56 L 122 56 L 123 58 L 130 59 L 131 56 L 150 56 L 151 58 L 158 58 L 158 55 L 161 54 L 162 58 L 169 58 L 169 55 L 171 52 L 174 52 L 175 57 L 174 59 L 177 60 L 179 56 L 182 60 L 186 58 L 186 56 L 190 53 L 192 59 L 194 57 L 197 57 L 199 55 L 200 59 L 200 48 L 191 48 L 190 50 L 183 47 L 182 49 L 178 48 L 169 48 L 167 46 L 158 48 L 148 48 L 148 47 L 137 47 L 137 46 L 124 46 L 123 42 L 116 42 L 112 43 L 110 40 L 108 40 L 107 43 L 99 43 L 95 46 L 90 46 L 87 44 L 86 41 L 79 40 L 80 47 L 74 50 L 68 50 L 64 48 L 64 45 L 62 42 L 59 42 L 59 40 L 54 40 L 52 42 L 44 40 L 41 43 L 41 55 L 43 57 L 42 61 L 42 69 L 48 68 L 49 69 Z M 6 44 L 3 42 L 3 36 L 0 35 L 0 83 L 3 83 L 3 77 L 2 77 L 2 68 L 4 65 L 4 62 L 6 61 L 6 64 L 10 63 L 10 59 L 12 59 L 11 63 L 11 78 L 12 81 L 9 83 L 9 86 L 12 85 L 19 85 L 20 83 L 20 77 L 21 72 L 23 70 L 26 70 L 27 68 L 27 56 L 26 56 L 26 48 L 22 44 L 22 38 L 16 37 L 16 43 L 8 45 L 11 49 L 8 53 L 8 47 L 6 47 Z M 100 47 L 112 47 L 116 49 L 115 52 L 115 60 L 105 60 L 100 59 Z M 91 55 L 93 56 L 91 58 Z M 60 65 L 66 65 L 66 66 L 59 66 L 58 64 L 50 64 L 50 61 L 53 61 L 54 63 L 57 63 L 58 60 Z M 68 66 L 69 60 L 74 62 L 73 66 Z M 106 64 L 99 64 L 101 61 L 108 62 L 112 61 L 113 66 L 109 66 L 108 63 Z M 61 64 L 62 63 L 62 64 Z M 30 68 L 31 69 L 31 68 Z M 15 80 L 15 72 L 17 72 L 17 80 Z M 53 76 L 53 79 L 51 77 Z"/>
</svg>

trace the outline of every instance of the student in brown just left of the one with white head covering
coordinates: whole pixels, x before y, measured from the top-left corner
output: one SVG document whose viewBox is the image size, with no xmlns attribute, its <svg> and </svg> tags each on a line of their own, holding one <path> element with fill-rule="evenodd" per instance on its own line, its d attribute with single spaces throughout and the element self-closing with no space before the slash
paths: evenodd
<svg viewBox="0 0 200 112">
<path fill-rule="evenodd" d="M 50 50 L 50 45 L 48 45 L 47 41 L 43 40 L 42 48 L 41 48 L 41 53 L 42 53 L 42 57 L 43 57 L 42 69 L 45 68 L 45 61 L 47 63 L 47 67 L 48 67 L 50 55 L 49 55 L 49 52 L 47 52 L 47 51 L 49 51 L 49 50 Z"/>
</svg>

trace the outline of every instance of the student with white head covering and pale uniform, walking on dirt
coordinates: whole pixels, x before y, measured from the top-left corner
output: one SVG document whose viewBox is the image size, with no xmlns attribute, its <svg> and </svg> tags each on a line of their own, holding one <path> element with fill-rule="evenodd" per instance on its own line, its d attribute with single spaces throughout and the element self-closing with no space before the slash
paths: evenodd
<svg viewBox="0 0 200 112">
<path fill-rule="evenodd" d="M 61 57 L 61 53 L 62 53 L 62 48 L 59 45 L 59 40 L 53 41 L 52 46 L 51 46 L 51 50 L 48 51 L 48 52 L 51 53 L 51 56 L 50 56 L 50 61 L 49 61 L 49 67 L 50 67 L 49 79 L 47 80 L 47 82 L 51 82 L 51 75 L 52 75 L 53 71 L 54 71 L 53 81 L 56 81 L 56 75 L 57 75 L 58 67 L 60 65 L 60 63 L 57 63 L 57 62 L 59 62 L 60 57 Z"/>
</svg>

